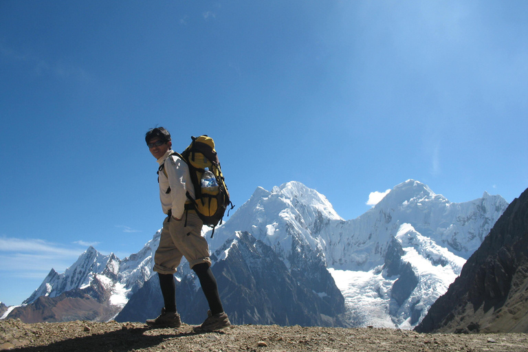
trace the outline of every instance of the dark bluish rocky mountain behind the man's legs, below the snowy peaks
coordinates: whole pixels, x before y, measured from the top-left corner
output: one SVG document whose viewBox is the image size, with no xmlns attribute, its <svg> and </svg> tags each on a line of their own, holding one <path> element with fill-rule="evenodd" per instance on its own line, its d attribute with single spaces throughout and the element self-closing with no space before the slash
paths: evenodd
<svg viewBox="0 0 528 352">
<path fill-rule="evenodd" d="M 232 323 L 344 326 L 339 318 L 344 312 L 344 299 L 333 279 L 330 283 L 331 276 L 324 265 L 317 272 L 320 282 L 308 285 L 306 275 L 303 281 L 298 280 L 270 246 L 248 232 L 241 232 L 236 239 L 225 243 L 212 259 L 218 259 L 226 250 L 228 255 L 216 261 L 211 269 L 217 278 L 223 308 Z M 312 264 L 311 270 L 318 270 L 317 265 Z M 326 291 L 316 293 L 311 288 L 314 285 Z M 196 289 L 195 279 L 185 276 L 177 283 L 176 292 L 181 319 L 188 324 L 200 324 L 206 318 L 208 305 L 201 289 Z M 159 281 L 153 276 L 131 297 L 115 320 L 144 322 L 155 318 L 162 307 Z"/>
</svg>

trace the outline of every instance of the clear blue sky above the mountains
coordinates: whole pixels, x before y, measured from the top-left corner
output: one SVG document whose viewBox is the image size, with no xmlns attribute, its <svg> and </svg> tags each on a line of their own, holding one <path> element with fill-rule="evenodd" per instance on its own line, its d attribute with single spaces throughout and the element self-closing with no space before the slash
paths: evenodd
<svg viewBox="0 0 528 352">
<path fill-rule="evenodd" d="M 301 181 L 344 219 L 406 179 L 528 187 L 527 1 L 0 0 L 0 300 L 161 227 L 144 133 L 217 142 L 232 200 Z M 373 198 L 373 197 L 371 197 Z"/>
</svg>

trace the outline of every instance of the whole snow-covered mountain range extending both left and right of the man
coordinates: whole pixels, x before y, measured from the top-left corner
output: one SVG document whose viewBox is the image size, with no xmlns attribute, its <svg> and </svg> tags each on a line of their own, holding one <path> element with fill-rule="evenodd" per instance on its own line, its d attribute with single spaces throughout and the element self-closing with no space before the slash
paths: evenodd
<svg viewBox="0 0 528 352">
<path fill-rule="evenodd" d="M 272 191 L 257 188 L 208 241 L 214 256 L 225 261 L 230 245 L 240 241 L 237 236 L 247 233 L 271 248 L 292 280 L 325 298 L 327 304 L 338 307 L 344 296 L 352 326 L 409 329 L 460 274 L 465 260 L 506 207 L 502 197 L 486 192 L 474 201 L 451 203 L 410 179 L 395 186 L 371 210 L 345 221 L 323 195 L 292 181 Z M 52 270 L 25 303 L 104 281 L 113 303 L 122 307 L 153 276 L 153 251 L 158 243 L 159 232 L 123 261 L 89 248 L 64 274 Z M 230 243 L 227 248 L 226 243 Z M 248 261 L 256 259 L 245 256 L 245 261 L 235 263 L 248 265 Z M 194 282 L 188 265 L 180 265 L 176 276 L 179 283 Z M 336 285 L 341 297 L 334 292 Z M 333 309 L 333 314 L 339 311 Z"/>
</svg>

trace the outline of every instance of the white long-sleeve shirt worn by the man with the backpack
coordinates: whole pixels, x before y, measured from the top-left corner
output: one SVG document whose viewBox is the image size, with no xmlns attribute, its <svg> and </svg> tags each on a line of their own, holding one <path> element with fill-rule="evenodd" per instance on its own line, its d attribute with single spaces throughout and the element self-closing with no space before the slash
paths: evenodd
<svg viewBox="0 0 528 352">
<path fill-rule="evenodd" d="M 173 217 L 181 219 L 187 200 L 186 192 L 195 198 L 195 187 L 192 186 L 189 167 L 173 150 L 168 150 L 157 159 L 157 163 L 159 166 L 165 163 L 166 170 L 166 174 L 163 171 L 158 173 L 159 200 L 162 202 L 163 212 L 168 214 L 168 210 L 172 209 Z M 170 192 L 167 193 L 169 186 Z"/>
</svg>

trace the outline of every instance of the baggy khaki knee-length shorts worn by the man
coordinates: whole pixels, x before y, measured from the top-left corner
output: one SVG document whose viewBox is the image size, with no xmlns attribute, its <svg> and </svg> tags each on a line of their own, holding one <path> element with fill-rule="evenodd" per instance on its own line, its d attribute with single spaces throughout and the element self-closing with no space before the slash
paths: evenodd
<svg viewBox="0 0 528 352">
<path fill-rule="evenodd" d="M 159 247 L 154 254 L 153 270 L 159 274 L 174 274 L 182 256 L 185 256 L 191 268 L 200 263 L 211 265 L 209 245 L 205 237 L 201 236 L 202 225 L 201 219 L 192 211 L 184 214 L 180 221 L 167 217 L 163 222 Z"/>
</svg>

